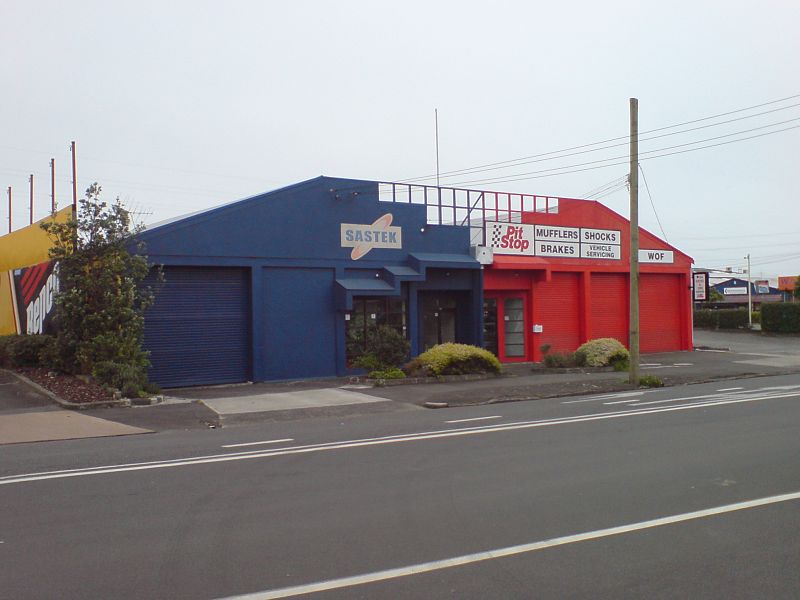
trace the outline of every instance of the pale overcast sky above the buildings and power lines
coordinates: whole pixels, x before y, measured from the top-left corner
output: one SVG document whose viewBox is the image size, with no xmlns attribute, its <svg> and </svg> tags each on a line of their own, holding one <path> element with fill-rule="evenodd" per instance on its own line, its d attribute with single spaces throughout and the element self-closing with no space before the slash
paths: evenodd
<svg viewBox="0 0 800 600">
<path fill-rule="evenodd" d="M 764 104 L 643 134 L 713 125 L 643 140 L 643 153 L 689 145 L 642 159 L 770 135 L 642 160 L 655 211 L 641 182 L 640 223 L 662 235 L 657 213 L 668 241 L 697 266 L 741 269 L 749 252 L 756 276 L 800 274 L 795 0 L 0 7 L 3 232 L 8 186 L 14 229 L 28 222 L 30 173 L 36 218 L 49 210 L 51 157 L 59 204 L 71 201 L 71 140 L 80 192 L 98 181 L 107 200 L 120 197 L 153 223 L 320 174 L 430 175 L 435 108 L 447 172 L 626 136 L 628 99 L 636 97 L 642 132 Z M 740 120 L 716 125 L 730 119 Z M 709 138 L 719 139 L 692 144 Z M 628 216 L 627 165 L 561 173 L 627 151 L 461 174 L 442 185 L 584 198 L 609 184 L 600 201 Z M 569 165 L 577 166 L 531 174 Z"/>
</svg>

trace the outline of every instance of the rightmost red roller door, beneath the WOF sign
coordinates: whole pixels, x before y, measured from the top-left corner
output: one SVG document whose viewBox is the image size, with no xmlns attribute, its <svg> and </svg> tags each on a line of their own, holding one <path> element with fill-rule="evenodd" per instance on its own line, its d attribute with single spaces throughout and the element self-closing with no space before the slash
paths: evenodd
<svg viewBox="0 0 800 600">
<path fill-rule="evenodd" d="M 681 349 L 681 278 L 642 273 L 639 276 L 639 329 L 642 352 Z"/>
</svg>

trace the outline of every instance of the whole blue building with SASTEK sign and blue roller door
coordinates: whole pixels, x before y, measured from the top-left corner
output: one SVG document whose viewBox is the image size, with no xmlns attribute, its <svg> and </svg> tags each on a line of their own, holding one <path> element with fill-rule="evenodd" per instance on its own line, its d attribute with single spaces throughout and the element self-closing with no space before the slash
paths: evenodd
<svg viewBox="0 0 800 600">
<path fill-rule="evenodd" d="M 145 231 L 165 279 L 145 317 L 151 379 L 346 375 L 354 344 L 381 324 L 409 339 L 412 356 L 447 341 L 479 345 L 470 227 L 456 226 L 455 208 L 438 221 L 451 224 L 431 225 L 427 202 L 410 192 L 387 202 L 379 188 L 318 177 Z"/>
</svg>

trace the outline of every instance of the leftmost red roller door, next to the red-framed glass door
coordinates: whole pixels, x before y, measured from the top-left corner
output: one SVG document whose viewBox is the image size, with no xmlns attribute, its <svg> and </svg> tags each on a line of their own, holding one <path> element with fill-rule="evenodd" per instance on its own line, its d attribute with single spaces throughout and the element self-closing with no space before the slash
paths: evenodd
<svg viewBox="0 0 800 600">
<path fill-rule="evenodd" d="M 551 281 L 536 286 L 535 322 L 544 326 L 537 337 L 550 344 L 550 352 L 572 352 L 580 346 L 578 290 L 577 273 L 553 273 Z"/>
</svg>

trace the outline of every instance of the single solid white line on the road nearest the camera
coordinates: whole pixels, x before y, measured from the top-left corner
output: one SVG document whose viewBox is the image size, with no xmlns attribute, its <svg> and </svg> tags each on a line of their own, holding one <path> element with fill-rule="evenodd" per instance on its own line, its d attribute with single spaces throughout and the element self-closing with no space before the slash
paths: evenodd
<svg viewBox="0 0 800 600">
<path fill-rule="evenodd" d="M 418 563 L 416 565 L 407 565 L 396 569 L 386 569 L 384 571 L 376 571 L 374 573 L 363 573 L 361 575 L 353 575 L 351 577 L 341 577 L 339 579 L 328 579 L 326 581 L 318 581 L 315 583 L 308 583 L 304 585 L 297 585 L 292 587 L 285 587 L 275 590 L 265 590 L 262 592 L 255 592 L 252 594 L 242 594 L 239 596 L 228 596 L 223 600 L 275 600 L 277 598 L 291 598 L 292 596 L 300 596 L 302 594 L 313 594 L 316 592 L 325 592 L 330 590 L 337 590 L 348 588 L 356 585 L 364 585 L 367 583 L 375 583 L 378 581 L 386 581 L 388 579 L 398 579 L 400 577 L 408 577 L 410 575 L 419 575 L 420 573 L 430 573 L 431 571 L 439 571 L 442 569 L 449 569 L 452 567 L 461 567 L 478 562 L 492 560 L 495 558 L 505 558 L 507 556 L 517 556 L 520 554 L 527 554 L 544 550 L 546 548 L 553 548 L 556 546 L 565 546 L 567 544 L 576 544 L 579 542 L 587 542 L 590 540 L 597 540 L 614 535 L 621 535 L 625 533 L 632 533 L 635 531 L 642 531 L 645 529 L 652 529 L 653 527 L 663 527 L 664 525 L 674 525 L 675 523 L 685 523 L 695 519 L 705 519 L 726 513 L 731 513 L 739 510 L 747 510 L 750 508 L 759 508 L 762 506 L 769 506 L 781 502 L 791 502 L 800 499 L 800 492 L 792 492 L 789 494 L 781 494 L 778 496 L 767 496 L 766 498 L 757 498 L 755 500 L 747 500 L 745 502 L 736 502 L 735 504 L 725 504 L 723 506 L 716 506 L 707 508 L 705 510 L 696 510 L 688 513 L 681 513 L 677 515 L 670 515 L 667 517 L 660 517 L 657 519 L 650 519 L 649 521 L 639 521 L 638 523 L 630 523 L 628 525 L 620 525 L 617 527 L 608 527 L 606 529 L 597 529 L 595 531 L 587 531 L 584 533 L 577 533 L 574 535 L 565 535 L 562 537 L 551 538 L 539 542 L 530 542 L 527 544 L 519 544 L 517 546 L 507 546 L 505 548 L 495 548 L 493 550 L 486 550 L 484 552 L 475 552 L 473 554 L 464 554 L 455 556 L 453 558 L 445 558 L 442 560 L 434 560 L 425 563 Z"/>
</svg>

